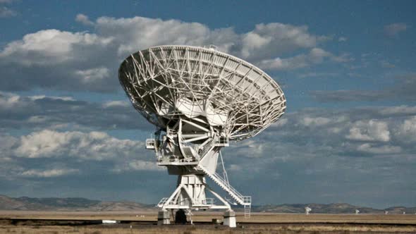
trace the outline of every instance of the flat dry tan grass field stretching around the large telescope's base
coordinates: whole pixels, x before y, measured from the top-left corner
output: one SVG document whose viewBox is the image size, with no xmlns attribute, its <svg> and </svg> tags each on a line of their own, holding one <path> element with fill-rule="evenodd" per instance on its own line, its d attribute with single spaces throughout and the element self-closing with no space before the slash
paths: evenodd
<svg viewBox="0 0 416 234">
<path fill-rule="evenodd" d="M 238 214 L 237 228 L 210 224 L 212 218 L 222 214 L 195 213 L 194 226 L 157 226 L 154 212 L 0 211 L 0 233 L 416 233 L 416 215 L 411 214 L 252 214 L 247 219 Z M 121 223 L 100 224 L 102 219 Z"/>
</svg>

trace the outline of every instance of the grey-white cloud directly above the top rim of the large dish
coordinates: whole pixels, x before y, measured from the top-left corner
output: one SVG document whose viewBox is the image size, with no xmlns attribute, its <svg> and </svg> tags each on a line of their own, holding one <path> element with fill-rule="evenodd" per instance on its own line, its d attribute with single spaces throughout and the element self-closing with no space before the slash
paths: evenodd
<svg viewBox="0 0 416 234">
<path fill-rule="evenodd" d="M 117 54 L 126 57 L 140 49 L 161 44 L 188 44 L 204 46 L 216 44 L 228 51 L 238 39 L 231 28 L 210 30 L 201 23 L 185 23 L 180 20 L 154 18 L 109 18 L 100 17 L 96 26 L 99 35 L 115 37 Z"/>
</svg>

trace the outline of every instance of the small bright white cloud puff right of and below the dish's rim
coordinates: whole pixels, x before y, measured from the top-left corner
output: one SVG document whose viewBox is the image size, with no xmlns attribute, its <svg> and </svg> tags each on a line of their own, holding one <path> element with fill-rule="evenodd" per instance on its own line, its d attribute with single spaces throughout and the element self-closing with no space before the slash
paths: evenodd
<svg viewBox="0 0 416 234">
<path fill-rule="evenodd" d="M 357 121 L 346 137 L 350 140 L 388 142 L 390 131 L 387 123 L 383 121 Z"/>
</svg>

